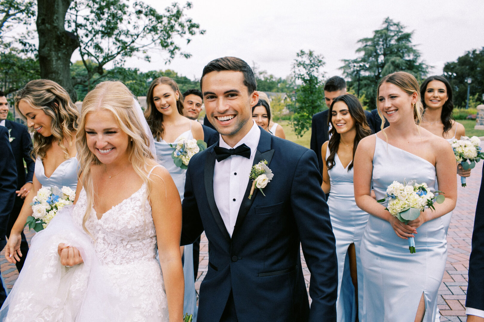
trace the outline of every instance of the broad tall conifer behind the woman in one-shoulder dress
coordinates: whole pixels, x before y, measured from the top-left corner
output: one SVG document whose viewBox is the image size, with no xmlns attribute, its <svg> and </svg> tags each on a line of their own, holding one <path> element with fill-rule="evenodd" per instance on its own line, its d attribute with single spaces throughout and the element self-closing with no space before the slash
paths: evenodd
<svg viewBox="0 0 484 322">
<path fill-rule="evenodd" d="M 365 95 L 365 105 L 375 107 L 377 84 L 380 78 L 394 71 L 407 71 L 418 80 L 422 79 L 429 68 L 420 58 L 420 51 L 412 43 L 413 31 L 405 31 L 405 26 L 389 17 L 383 21 L 382 28 L 375 30 L 372 37 L 358 41 L 356 59 L 344 59 L 341 67 L 349 78 L 348 89 Z"/>
</svg>

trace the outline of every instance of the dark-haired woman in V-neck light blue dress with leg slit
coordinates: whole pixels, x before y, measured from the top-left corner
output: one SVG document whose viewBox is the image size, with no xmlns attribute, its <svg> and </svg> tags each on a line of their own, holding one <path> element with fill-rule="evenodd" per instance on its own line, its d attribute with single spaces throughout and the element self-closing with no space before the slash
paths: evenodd
<svg viewBox="0 0 484 322">
<path fill-rule="evenodd" d="M 323 143 L 323 183 L 321 188 L 328 197 L 331 224 L 336 238 L 338 258 L 338 298 L 336 314 L 339 322 L 358 321 L 363 314 L 363 267 L 360 258 L 360 244 L 368 213 L 359 209 L 355 202 L 353 188 L 353 157 L 360 140 L 371 135 L 366 117 L 358 98 L 351 94 L 339 96 L 330 106 L 330 140 Z M 348 258 L 347 258 L 348 254 Z M 349 271 L 345 261 L 349 259 Z M 345 269 L 346 268 L 346 269 Z M 354 292 L 349 287 L 351 276 Z M 344 280 L 344 281 L 343 281 Z M 353 310 L 352 303 L 355 303 Z M 360 304 L 360 306 L 358 306 Z"/>
</svg>

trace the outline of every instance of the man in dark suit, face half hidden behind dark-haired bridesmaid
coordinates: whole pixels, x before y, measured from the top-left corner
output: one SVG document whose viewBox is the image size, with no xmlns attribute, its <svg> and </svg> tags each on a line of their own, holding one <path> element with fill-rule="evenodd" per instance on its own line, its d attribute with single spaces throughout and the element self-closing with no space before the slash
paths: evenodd
<svg viewBox="0 0 484 322">
<path fill-rule="evenodd" d="M 318 156 L 318 166 L 319 166 L 319 173 L 323 172 L 323 160 L 321 157 L 321 146 L 324 142 L 329 140 L 329 131 L 331 129 L 331 125 L 329 123 L 329 108 L 333 103 L 334 98 L 338 96 L 346 94 L 346 81 L 339 77 L 333 76 L 331 77 L 326 84 L 324 84 L 324 101 L 326 102 L 326 106 L 328 107 L 327 110 L 323 112 L 318 112 L 313 115 L 312 125 L 311 125 L 311 143 L 310 147 L 316 155 Z M 371 113 L 368 111 L 364 111 L 366 119 L 368 121 L 368 125 L 370 129 L 373 130 L 373 126 L 371 123 Z"/>
</svg>

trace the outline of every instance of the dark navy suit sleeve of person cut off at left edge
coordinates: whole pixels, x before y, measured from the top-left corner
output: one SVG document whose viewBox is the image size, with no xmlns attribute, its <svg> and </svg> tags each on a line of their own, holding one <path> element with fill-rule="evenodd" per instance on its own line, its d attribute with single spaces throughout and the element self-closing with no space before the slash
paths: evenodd
<svg viewBox="0 0 484 322">
<path fill-rule="evenodd" d="M 8 140 L 8 129 L 0 126 L 0 247 L 5 247 L 5 235 L 10 212 L 14 207 L 17 187 L 15 158 Z"/>
</svg>

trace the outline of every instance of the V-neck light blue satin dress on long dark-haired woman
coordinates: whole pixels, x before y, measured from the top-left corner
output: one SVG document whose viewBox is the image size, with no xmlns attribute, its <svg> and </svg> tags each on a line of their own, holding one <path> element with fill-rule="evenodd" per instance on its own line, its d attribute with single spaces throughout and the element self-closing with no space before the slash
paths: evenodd
<svg viewBox="0 0 484 322">
<path fill-rule="evenodd" d="M 330 155 L 326 149 L 326 158 Z M 349 274 L 348 247 L 355 244 L 358 278 L 359 317 L 363 316 L 363 266 L 360 257 L 360 245 L 363 231 L 368 222 L 368 213 L 355 202 L 353 186 L 353 168 L 348 171 L 338 157 L 334 156 L 334 166 L 328 170 L 331 193 L 328 198 L 331 224 L 336 239 L 336 256 L 338 259 L 338 298 L 336 299 L 336 321 L 355 321 L 355 293 Z"/>
</svg>

